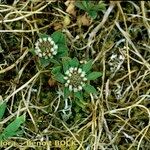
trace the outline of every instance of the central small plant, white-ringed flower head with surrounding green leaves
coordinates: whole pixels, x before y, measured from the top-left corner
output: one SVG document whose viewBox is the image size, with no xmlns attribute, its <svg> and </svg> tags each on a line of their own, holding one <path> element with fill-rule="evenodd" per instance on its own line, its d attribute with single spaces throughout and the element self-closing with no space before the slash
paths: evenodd
<svg viewBox="0 0 150 150">
<path fill-rule="evenodd" d="M 78 99 L 83 99 L 82 91 L 88 94 L 96 93 L 96 89 L 90 85 L 91 80 L 101 76 L 100 72 L 91 72 L 92 60 L 86 64 L 80 64 L 77 58 L 63 59 L 63 69 L 61 66 L 52 70 L 54 79 L 64 86 L 64 98 L 73 94 Z"/>
</svg>

